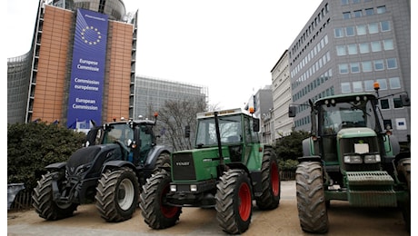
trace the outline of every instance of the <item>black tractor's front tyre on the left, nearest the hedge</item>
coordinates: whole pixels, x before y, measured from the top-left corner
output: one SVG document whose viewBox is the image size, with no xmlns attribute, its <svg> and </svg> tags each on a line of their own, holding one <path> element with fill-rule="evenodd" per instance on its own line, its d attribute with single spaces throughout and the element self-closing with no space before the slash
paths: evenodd
<svg viewBox="0 0 418 236">
<path fill-rule="evenodd" d="M 53 199 L 53 178 L 58 177 L 58 188 L 61 187 L 65 178 L 63 172 L 48 172 L 42 175 L 40 181 L 32 194 L 34 200 L 33 206 L 36 213 L 47 221 L 56 221 L 73 216 L 73 212 L 77 210 L 77 203 L 60 203 L 54 202 Z"/>
</svg>

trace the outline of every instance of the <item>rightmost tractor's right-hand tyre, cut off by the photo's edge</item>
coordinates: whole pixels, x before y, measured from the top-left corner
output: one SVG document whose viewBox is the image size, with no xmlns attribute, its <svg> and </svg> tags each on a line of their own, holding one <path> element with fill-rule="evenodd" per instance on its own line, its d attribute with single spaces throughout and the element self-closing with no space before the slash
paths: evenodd
<svg viewBox="0 0 418 236">
<path fill-rule="evenodd" d="M 403 213 L 403 221 L 407 231 L 411 231 L 411 158 L 403 158 L 398 162 L 396 167 L 400 174 L 400 179 L 406 183 L 408 188 L 408 199 L 405 202 L 400 202 Z"/>
</svg>

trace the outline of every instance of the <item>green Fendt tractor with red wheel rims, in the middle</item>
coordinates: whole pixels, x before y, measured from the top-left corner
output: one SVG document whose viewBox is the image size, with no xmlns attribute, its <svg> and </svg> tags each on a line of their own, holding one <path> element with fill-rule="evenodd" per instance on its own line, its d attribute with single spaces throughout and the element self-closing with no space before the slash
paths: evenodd
<svg viewBox="0 0 418 236">
<path fill-rule="evenodd" d="M 278 162 L 273 147 L 260 143 L 259 126 L 241 109 L 198 113 L 195 149 L 173 152 L 171 169 L 144 184 L 140 207 L 148 226 L 174 226 L 182 207 L 214 207 L 223 231 L 242 233 L 253 200 L 261 210 L 277 208 Z"/>
</svg>

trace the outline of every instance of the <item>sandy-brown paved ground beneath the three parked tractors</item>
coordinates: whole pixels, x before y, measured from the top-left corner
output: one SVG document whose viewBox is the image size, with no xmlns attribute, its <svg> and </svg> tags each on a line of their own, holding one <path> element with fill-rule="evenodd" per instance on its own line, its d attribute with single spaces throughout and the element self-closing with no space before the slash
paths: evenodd
<svg viewBox="0 0 418 236">
<path fill-rule="evenodd" d="M 180 221 L 172 228 L 154 231 L 141 216 L 140 209 L 129 221 L 103 221 L 95 205 L 82 205 L 75 216 L 61 221 L 44 221 L 35 211 L 8 212 L 7 235 L 225 235 L 217 225 L 214 209 L 184 208 Z M 404 230 L 402 213 L 396 209 L 351 208 L 347 202 L 331 202 L 327 235 L 410 235 Z M 244 235 L 311 235 L 299 226 L 295 183 L 282 182 L 279 208 L 254 208 L 250 229 Z M 413 235 L 413 233 L 412 233 Z"/>
</svg>

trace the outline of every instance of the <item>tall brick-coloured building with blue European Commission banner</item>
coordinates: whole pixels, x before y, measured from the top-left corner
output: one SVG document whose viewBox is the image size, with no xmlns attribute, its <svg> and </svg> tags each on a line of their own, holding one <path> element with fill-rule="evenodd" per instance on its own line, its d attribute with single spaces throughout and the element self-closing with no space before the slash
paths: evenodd
<svg viewBox="0 0 418 236">
<path fill-rule="evenodd" d="M 7 61 L 7 123 L 132 117 L 136 18 L 121 0 L 41 0 L 30 52 Z"/>
</svg>

